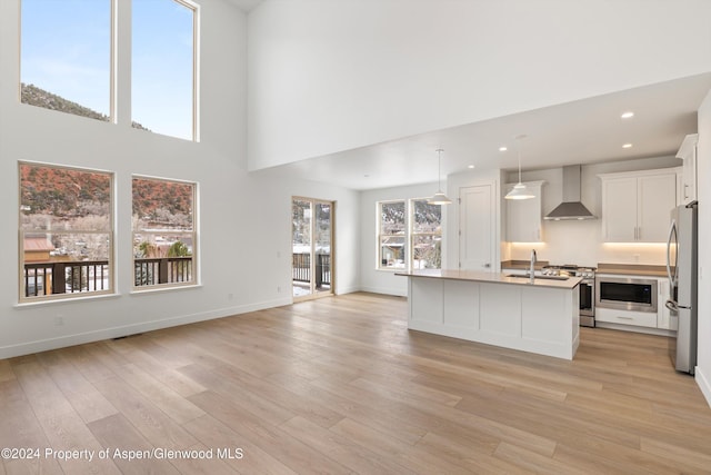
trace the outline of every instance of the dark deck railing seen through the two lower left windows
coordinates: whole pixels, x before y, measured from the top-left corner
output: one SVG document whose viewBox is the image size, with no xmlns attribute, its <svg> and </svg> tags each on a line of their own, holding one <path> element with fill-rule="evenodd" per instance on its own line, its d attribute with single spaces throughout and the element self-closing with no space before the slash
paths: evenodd
<svg viewBox="0 0 711 475">
<path fill-rule="evenodd" d="M 192 281 L 192 257 L 133 259 L 137 287 Z M 108 260 L 31 263 L 24 265 L 24 296 L 108 290 Z"/>
</svg>

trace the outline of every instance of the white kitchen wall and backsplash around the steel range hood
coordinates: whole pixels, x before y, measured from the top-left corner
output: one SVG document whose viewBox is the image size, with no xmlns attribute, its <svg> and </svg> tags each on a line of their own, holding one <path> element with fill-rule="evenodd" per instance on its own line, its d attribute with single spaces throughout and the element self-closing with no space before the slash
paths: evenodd
<svg viewBox="0 0 711 475">
<path fill-rule="evenodd" d="M 692 131 L 690 131 L 692 132 Z M 680 142 L 681 145 L 681 142 Z M 598 218 L 601 216 L 602 194 L 598 175 L 618 171 L 650 170 L 681 166 L 675 157 L 654 157 L 637 160 L 585 165 L 581 169 L 581 198 L 588 209 Z M 562 201 L 563 169 L 524 171 L 524 181 L 544 180 L 542 215 L 552 211 Z M 508 181 L 515 182 L 517 174 L 509 174 Z M 544 243 L 533 247 L 540 260 L 551 264 L 577 264 L 597 266 L 599 263 L 664 265 L 663 244 L 605 244 L 602 241 L 602 220 L 543 221 Z M 527 260 L 531 244 L 510 244 L 510 258 Z"/>
</svg>

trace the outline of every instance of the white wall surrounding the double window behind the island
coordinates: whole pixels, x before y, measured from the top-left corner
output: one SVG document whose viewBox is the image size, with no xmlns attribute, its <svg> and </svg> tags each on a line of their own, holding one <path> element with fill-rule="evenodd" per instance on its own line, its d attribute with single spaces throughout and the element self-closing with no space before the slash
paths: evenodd
<svg viewBox="0 0 711 475">
<path fill-rule="evenodd" d="M 360 286 L 363 291 L 389 295 L 408 295 L 408 278 L 394 275 L 394 270 L 378 269 L 378 201 L 428 198 L 437 191 L 437 182 L 407 187 L 382 188 L 360 194 Z M 451 206 L 442 207 L 442 229 Z M 444 232 L 448 232 L 445 230 Z M 442 263 L 447 259 L 447 243 L 442 243 Z"/>
</svg>

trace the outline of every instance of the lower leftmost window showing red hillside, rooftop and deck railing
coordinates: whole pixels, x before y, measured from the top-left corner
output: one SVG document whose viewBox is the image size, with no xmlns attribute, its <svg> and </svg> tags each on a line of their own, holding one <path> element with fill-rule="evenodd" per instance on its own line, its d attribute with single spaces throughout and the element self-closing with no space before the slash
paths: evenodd
<svg viewBox="0 0 711 475">
<path fill-rule="evenodd" d="M 20 300 L 113 291 L 113 176 L 21 162 Z"/>
</svg>

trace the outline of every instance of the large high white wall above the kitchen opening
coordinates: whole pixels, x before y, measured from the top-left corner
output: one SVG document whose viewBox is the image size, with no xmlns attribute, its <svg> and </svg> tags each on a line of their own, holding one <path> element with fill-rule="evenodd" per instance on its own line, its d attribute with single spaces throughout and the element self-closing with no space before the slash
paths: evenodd
<svg viewBox="0 0 711 475">
<path fill-rule="evenodd" d="M 264 0 L 250 168 L 707 72 L 709 18 L 708 0 Z"/>
</svg>

